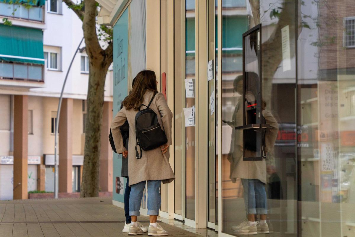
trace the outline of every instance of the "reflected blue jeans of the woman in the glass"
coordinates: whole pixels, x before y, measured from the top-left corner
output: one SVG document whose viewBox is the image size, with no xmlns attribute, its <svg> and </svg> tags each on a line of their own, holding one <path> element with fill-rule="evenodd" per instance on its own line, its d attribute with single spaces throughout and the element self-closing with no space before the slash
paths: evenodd
<svg viewBox="0 0 355 237">
<path fill-rule="evenodd" d="M 265 184 L 259 179 L 241 179 L 246 214 L 267 214 Z"/>
</svg>

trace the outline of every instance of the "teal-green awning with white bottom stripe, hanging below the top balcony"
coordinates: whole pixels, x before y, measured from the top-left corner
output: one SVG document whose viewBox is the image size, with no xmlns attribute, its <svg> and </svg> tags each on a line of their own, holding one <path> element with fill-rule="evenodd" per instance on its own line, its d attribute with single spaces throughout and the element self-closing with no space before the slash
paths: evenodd
<svg viewBox="0 0 355 237">
<path fill-rule="evenodd" d="M 0 61 L 44 64 L 42 29 L 0 24 Z"/>
</svg>

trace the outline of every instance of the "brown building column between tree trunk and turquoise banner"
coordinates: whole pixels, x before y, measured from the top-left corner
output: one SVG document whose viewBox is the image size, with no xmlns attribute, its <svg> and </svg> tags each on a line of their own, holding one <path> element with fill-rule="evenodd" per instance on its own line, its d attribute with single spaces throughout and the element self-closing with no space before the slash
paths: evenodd
<svg viewBox="0 0 355 237">
<path fill-rule="evenodd" d="M 113 153 L 108 139 L 112 116 L 112 102 L 105 101 L 102 114 L 100 151 L 100 190 L 103 192 L 112 192 L 113 187 Z"/>
</svg>

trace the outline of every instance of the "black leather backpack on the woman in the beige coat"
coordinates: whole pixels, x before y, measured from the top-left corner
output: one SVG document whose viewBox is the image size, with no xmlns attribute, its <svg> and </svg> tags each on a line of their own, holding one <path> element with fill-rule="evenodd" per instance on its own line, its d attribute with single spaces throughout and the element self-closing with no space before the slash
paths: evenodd
<svg viewBox="0 0 355 237">
<path fill-rule="evenodd" d="M 160 124 L 158 123 L 157 114 L 153 111 L 153 109 L 149 108 L 156 94 L 157 92 L 154 93 L 148 106 L 141 104 L 140 107 L 145 106 L 147 108 L 141 110 L 139 107 L 138 113 L 136 114 L 135 126 L 137 159 L 142 158 L 142 150 L 153 150 L 168 142 L 164 130 L 160 127 Z M 140 153 L 137 149 L 138 146 L 140 147 Z"/>
</svg>

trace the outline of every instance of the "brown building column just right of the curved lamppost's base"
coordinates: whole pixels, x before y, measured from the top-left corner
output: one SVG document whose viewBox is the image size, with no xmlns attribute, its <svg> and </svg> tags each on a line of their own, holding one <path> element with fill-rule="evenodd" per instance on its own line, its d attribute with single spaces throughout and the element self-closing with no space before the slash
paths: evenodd
<svg viewBox="0 0 355 237">
<path fill-rule="evenodd" d="M 73 99 L 62 101 L 59 119 L 59 192 L 72 193 Z"/>
</svg>

